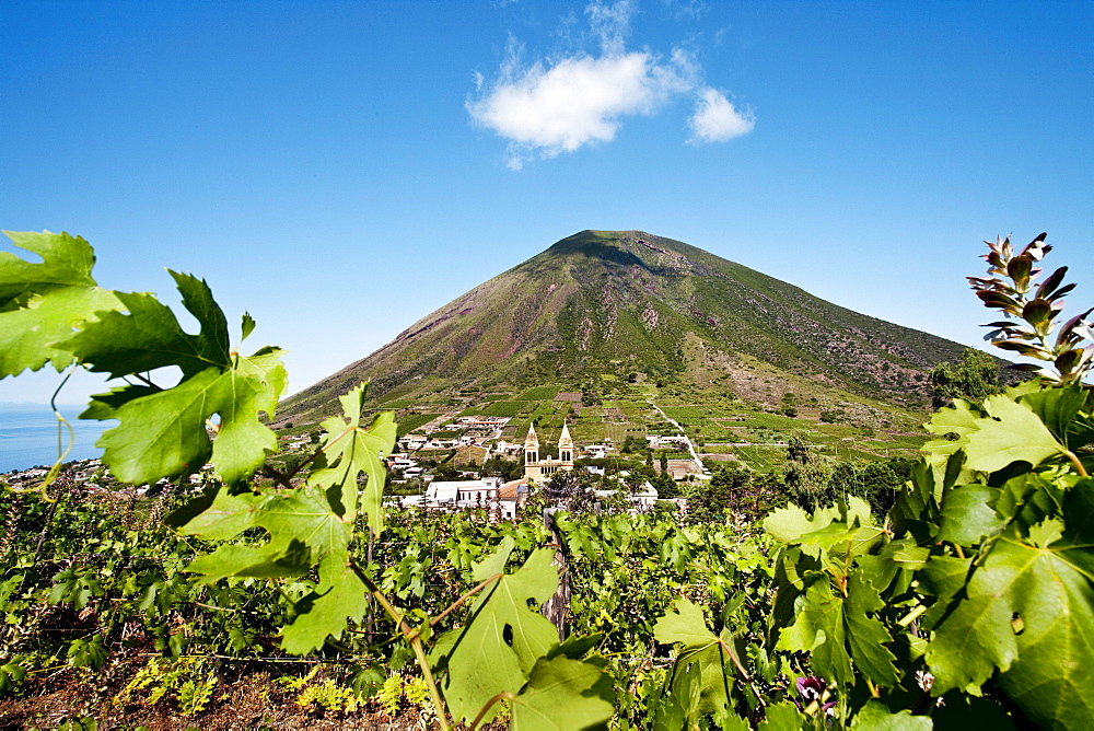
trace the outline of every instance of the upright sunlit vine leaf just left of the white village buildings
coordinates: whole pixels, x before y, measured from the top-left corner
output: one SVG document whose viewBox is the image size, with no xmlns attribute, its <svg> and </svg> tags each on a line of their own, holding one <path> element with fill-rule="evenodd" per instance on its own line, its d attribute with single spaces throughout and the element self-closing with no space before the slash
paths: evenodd
<svg viewBox="0 0 1094 731">
<path fill-rule="evenodd" d="M 384 481 L 387 475 L 383 455 L 392 453 L 397 427 L 392 411 L 382 411 L 368 428 L 361 426 L 366 390 L 368 384 L 362 384 L 341 396 L 339 401 L 345 416 L 331 417 L 321 425 L 327 431 L 323 440 L 326 462 L 334 466 L 313 471 L 307 484 L 326 490 L 335 512 L 352 522 L 358 512 L 357 478 L 362 473 L 366 474 L 369 480 L 362 500 L 364 513 L 369 527 L 380 535 L 384 526 Z"/>
</svg>

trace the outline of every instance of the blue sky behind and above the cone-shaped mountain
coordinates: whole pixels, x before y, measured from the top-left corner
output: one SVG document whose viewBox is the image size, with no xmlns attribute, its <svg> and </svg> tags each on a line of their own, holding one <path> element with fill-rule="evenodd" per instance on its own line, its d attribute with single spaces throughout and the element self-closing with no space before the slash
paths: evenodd
<svg viewBox="0 0 1094 731">
<path fill-rule="evenodd" d="M 84 236 L 116 289 L 205 277 L 291 391 L 584 229 L 976 344 L 984 239 L 1048 231 L 1094 304 L 1092 31 L 1090 2 L 7 0 L 0 228 Z"/>
</svg>

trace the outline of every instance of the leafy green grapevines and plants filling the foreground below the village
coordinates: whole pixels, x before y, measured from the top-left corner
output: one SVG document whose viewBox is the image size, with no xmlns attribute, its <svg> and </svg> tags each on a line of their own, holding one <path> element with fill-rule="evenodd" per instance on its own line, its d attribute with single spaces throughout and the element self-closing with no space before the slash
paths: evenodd
<svg viewBox="0 0 1094 731">
<path fill-rule="evenodd" d="M 124 385 L 83 415 L 119 422 L 100 442 L 109 475 L 58 465 L 0 498 L 8 726 L 1094 718 L 1094 333 L 1090 311 L 1059 322 L 1072 286 L 1038 281 L 1044 236 L 991 244 L 971 279 L 1035 378 L 935 413 L 887 512 L 848 495 L 757 521 L 597 514 L 560 479 L 499 522 L 385 503 L 398 427 L 363 416 L 365 385 L 305 460 L 274 466 L 279 351 L 241 355 L 203 281 L 172 272 L 193 335 L 153 295 L 100 288 L 83 240 L 9 235 L 42 262 L 0 253 L 0 376 L 49 363 Z M 244 315 L 240 339 L 254 328 Z"/>
</svg>

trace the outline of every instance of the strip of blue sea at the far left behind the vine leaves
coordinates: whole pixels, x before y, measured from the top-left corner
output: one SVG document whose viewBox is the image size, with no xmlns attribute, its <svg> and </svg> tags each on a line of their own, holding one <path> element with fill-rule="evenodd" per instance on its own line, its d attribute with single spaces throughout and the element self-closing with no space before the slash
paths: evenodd
<svg viewBox="0 0 1094 731">
<path fill-rule="evenodd" d="M 83 406 L 59 406 L 61 416 L 68 419 L 75 432 L 72 450 L 65 457 L 90 460 L 103 455 L 95 441 L 118 425 L 109 421 L 83 421 L 77 417 Z M 59 455 L 57 451 L 57 417 L 49 406 L 40 404 L 0 404 L 0 473 L 51 465 Z M 68 429 L 61 425 L 62 445 L 68 444 Z M 63 449 L 63 446 L 62 446 Z"/>
</svg>

